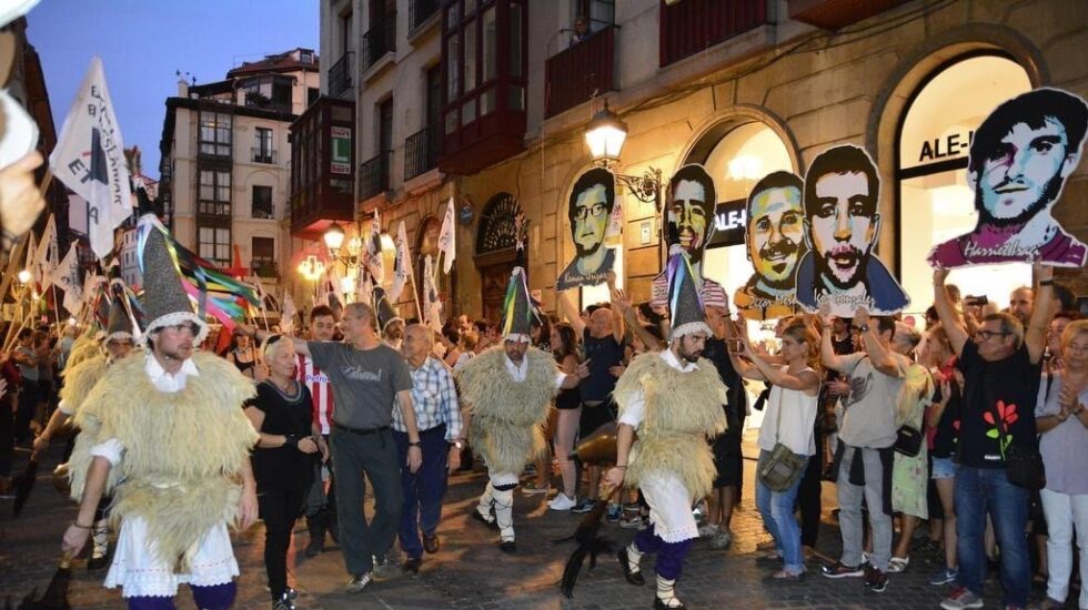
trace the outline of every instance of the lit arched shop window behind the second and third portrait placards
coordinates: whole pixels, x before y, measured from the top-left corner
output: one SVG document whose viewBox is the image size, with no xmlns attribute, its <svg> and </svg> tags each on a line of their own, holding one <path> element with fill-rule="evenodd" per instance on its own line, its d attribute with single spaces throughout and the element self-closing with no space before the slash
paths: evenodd
<svg viewBox="0 0 1088 610">
<path fill-rule="evenodd" d="M 699 160 L 688 159 L 688 163 Z M 725 133 L 702 161 L 714 179 L 717 203 L 746 201 L 759 179 L 770 172 L 797 172 L 782 138 L 767 124 L 752 121 Z M 715 214 L 715 228 L 724 227 L 728 218 Z M 715 247 L 712 236 L 703 255 L 703 276 L 722 284 L 733 299 L 733 293 L 752 276 L 752 263 L 743 244 Z"/>
</svg>

